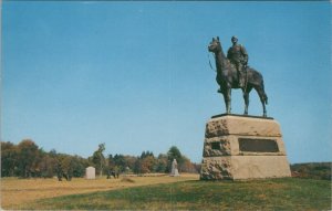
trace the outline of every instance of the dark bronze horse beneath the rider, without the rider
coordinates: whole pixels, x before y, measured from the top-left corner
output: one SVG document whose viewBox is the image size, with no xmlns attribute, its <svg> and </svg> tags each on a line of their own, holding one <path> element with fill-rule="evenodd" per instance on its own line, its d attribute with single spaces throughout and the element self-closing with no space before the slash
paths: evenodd
<svg viewBox="0 0 332 211">
<path fill-rule="evenodd" d="M 231 88 L 240 88 L 238 85 L 238 74 L 235 65 L 232 65 L 229 60 L 225 56 L 224 51 L 221 49 L 221 44 L 219 38 L 212 39 L 208 46 L 208 51 L 215 53 L 216 59 L 216 67 L 217 67 L 217 77 L 216 81 L 220 86 L 218 91 L 224 95 L 224 101 L 226 104 L 226 113 L 230 114 L 231 110 Z M 264 83 L 262 75 L 247 66 L 246 67 L 246 83 L 245 87 L 242 87 L 243 98 L 245 98 L 245 115 L 248 115 L 248 106 L 249 106 L 249 93 L 252 88 L 259 95 L 262 108 L 263 108 L 263 117 L 267 117 L 267 108 L 268 96 L 264 92 Z"/>
</svg>

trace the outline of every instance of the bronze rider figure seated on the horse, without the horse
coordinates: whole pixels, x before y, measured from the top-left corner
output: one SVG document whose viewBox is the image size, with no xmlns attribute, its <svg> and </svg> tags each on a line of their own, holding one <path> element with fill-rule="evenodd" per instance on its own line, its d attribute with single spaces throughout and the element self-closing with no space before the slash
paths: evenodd
<svg viewBox="0 0 332 211">
<path fill-rule="evenodd" d="M 227 59 L 232 63 L 238 72 L 239 87 L 245 86 L 245 68 L 248 64 L 248 54 L 243 45 L 238 44 L 237 36 L 231 36 L 232 46 L 229 48 Z"/>
</svg>

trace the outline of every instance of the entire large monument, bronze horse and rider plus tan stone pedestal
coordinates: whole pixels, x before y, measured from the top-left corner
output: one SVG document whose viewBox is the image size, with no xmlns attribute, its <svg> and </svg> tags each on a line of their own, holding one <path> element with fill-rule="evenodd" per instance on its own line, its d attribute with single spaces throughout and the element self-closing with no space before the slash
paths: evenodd
<svg viewBox="0 0 332 211">
<path fill-rule="evenodd" d="M 235 36 L 234 36 L 235 38 Z M 246 180 L 290 177 L 282 134 L 277 120 L 267 117 L 263 77 L 247 65 L 245 48 L 234 46 L 225 56 L 219 38 L 212 39 L 208 50 L 215 53 L 217 83 L 224 95 L 226 114 L 212 116 L 206 124 L 200 179 Z M 238 52 L 237 52 L 238 51 Z M 231 53 L 230 53 L 231 52 Z M 242 65 L 235 64 L 234 60 Z M 239 74 L 238 72 L 242 72 Z M 245 75 L 245 76 L 243 76 Z M 240 77 L 245 77 L 241 83 Z M 231 88 L 241 88 L 245 114 L 230 114 Z M 249 93 L 256 89 L 263 108 L 262 117 L 248 116 Z"/>
</svg>

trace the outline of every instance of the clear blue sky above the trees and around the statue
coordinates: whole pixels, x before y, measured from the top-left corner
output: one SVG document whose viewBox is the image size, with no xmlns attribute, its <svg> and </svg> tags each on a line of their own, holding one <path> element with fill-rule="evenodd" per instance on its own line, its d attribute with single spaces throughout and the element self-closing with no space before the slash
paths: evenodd
<svg viewBox="0 0 332 211">
<path fill-rule="evenodd" d="M 1 140 L 83 157 L 175 145 L 200 162 L 205 124 L 225 112 L 207 45 L 218 35 L 226 52 L 237 35 L 289 161 L 332 160 L 329 1 L 2 1 L 1 35 Z"/>
</svg>

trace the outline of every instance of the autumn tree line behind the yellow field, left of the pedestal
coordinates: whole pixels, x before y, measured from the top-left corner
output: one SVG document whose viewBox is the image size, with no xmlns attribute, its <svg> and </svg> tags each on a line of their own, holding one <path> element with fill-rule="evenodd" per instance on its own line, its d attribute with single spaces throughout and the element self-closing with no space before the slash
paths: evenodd
<svg viewBox="0 0 332 211">
<path fill-rule="evenodd" d="M 116 173 L 168 173 L 174 159 L 178 162 L 180 172 L 198 172 L 200 165 L 193 163 L 181 155 L 176 146 L 172 146 L 166 154 L 155 156 L 152 151 L 143 151 L 141 156 L 104 155 L 105 144 L 100 144 L 92 156 L 83 158 L 56 152 L 54 149 L 45 151 L 33 140 L 24 139 L 18 145 L 1 141 L 1 177 L 31 178 L 58 177 L 59 180 L 72 177 L 84 177 L 85 168 L 93 166 L 100 176 Z"/>
</svg>

